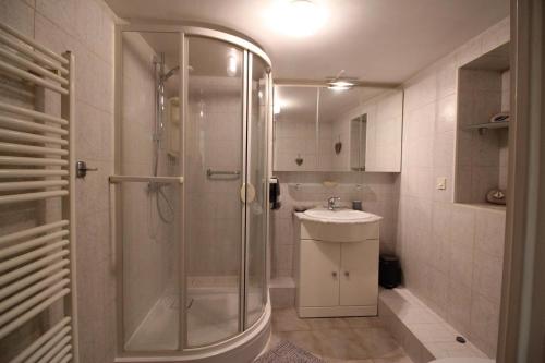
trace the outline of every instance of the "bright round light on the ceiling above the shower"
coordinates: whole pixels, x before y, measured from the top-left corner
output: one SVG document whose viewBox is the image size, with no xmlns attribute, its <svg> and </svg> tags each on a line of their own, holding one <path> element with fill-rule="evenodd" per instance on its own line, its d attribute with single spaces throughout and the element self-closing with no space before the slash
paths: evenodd
<svg viewBox="0 0 545 363">
<path fill-rule="evenodd" d="M 318 31 L 327 19 L 327 12 L 316 0 L 276 0 L 267 11 L 269 25 L 277 32 L 305 37 Z"/>
</svg>

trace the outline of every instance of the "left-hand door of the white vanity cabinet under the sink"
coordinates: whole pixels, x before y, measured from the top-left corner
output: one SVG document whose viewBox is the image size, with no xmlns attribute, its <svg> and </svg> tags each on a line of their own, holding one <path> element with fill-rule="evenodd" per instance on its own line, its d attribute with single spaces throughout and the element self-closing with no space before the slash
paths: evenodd
<svg viewBox="0 0 545 363">
<path fill-rule="evenodd" d="M 340 243 L 301 240 L 299 303 L 339 305 Z"/>
</svg>

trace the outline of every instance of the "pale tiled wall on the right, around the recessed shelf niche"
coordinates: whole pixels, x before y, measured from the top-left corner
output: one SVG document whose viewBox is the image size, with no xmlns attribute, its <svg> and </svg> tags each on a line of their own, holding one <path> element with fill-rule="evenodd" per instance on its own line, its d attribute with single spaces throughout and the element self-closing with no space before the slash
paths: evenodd
<svg viewBox="0 0 545 363">
<path fill-rule="evenodd" d="M 494 356 L 505 211 L 453 204 L 458 68 L 509 39 L 509 20 L 404 84 L 397 251 L 405 286 Z M 437 190 L 447 177 L 447 190 Z"/>
</svg>

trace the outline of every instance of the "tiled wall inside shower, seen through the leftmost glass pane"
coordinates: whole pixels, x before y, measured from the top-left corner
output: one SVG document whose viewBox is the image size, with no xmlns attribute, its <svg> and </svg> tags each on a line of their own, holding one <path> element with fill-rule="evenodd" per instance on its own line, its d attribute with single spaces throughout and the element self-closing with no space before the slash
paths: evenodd
<svg viewBox="0 0 545 363">
<path fill-rule="evenodd" d="M 155 50 L 138 33 L 123 34 L 123 102 L 121 121 L 121 170 L 126 176 L 154 173 Z M 166 95 L 168 99 L 169 95 Z M 178 174 L 178 162 L 159 149 L 158 176 Z M 152 192 L 147 183 L 120 186 L 123 235 L 123 314 L 128 340 L 165 294 L 167 285 L 177 283 L 177 204 L 174 185 Z M 172 210 L 169 207 L 172 208 Z M 167 221 L 159 216 L 158 208 Z"/>
</svg>

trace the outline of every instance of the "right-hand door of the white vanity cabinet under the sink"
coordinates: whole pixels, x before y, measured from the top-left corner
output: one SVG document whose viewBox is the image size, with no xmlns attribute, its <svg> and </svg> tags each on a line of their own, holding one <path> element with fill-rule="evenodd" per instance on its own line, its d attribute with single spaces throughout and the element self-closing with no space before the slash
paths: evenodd
<svg viewBox="0 0 545 363">
<path fill-rule="evenodd" d="M 376 305 L 378 297 L 378 240 L 339 243 L 340 305 Z"/>
</svg>

